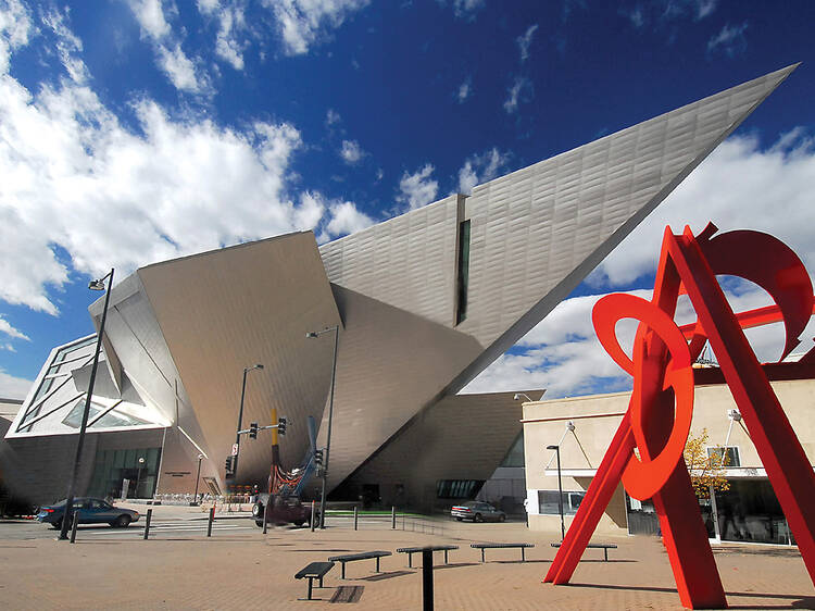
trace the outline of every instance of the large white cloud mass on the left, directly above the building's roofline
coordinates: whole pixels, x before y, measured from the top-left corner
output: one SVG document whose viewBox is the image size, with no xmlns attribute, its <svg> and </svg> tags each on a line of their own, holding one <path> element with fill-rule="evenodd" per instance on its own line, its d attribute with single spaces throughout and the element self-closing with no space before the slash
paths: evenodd
<svg viewBox="0 0 815 611">
<path fill-rule="evenodd" d="M 289 195 L 288 123 L 242 132 L 135 103 L 138 133 L 87 86 L 36 95 L 0 79 L 0 299 L 55 314 L 49 286 L 296 229 L 323 209 Z M 67 259 L 59 259 L 55 247 Z"/>
</svg>

